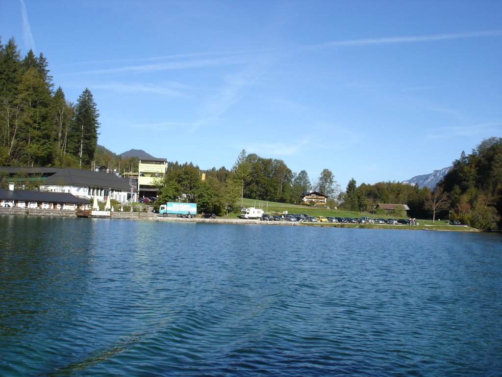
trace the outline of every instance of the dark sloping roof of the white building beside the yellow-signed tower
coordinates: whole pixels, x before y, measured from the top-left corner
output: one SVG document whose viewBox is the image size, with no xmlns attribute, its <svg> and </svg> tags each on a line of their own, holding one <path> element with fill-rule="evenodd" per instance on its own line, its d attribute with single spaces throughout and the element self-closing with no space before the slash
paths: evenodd
<svg viewBox="0 0 502 377">
<path fill-rule="evenodd" d="M 111 187 L 111 189 L 131 190 L 129 178 L 121 178 L 115 174 L 104 173 L 102 171 L 72 169 L 69 167 L 47 178 L 44 184 L 55 186 Z"/>
</svg>

